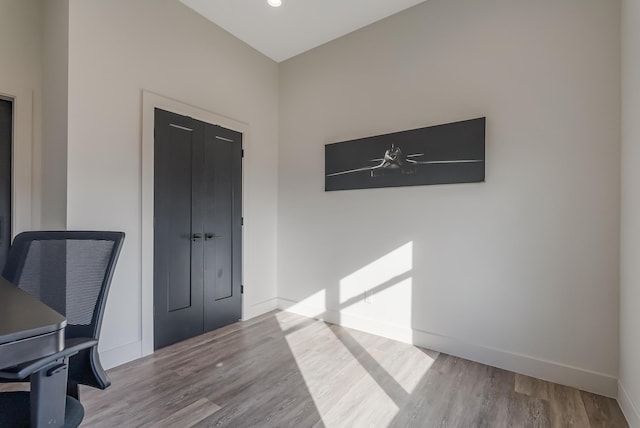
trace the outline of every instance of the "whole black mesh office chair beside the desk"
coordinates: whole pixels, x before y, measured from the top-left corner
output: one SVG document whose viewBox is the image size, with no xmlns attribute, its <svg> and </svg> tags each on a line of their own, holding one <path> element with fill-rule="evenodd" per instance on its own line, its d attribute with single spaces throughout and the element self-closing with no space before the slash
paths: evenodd
<svg viewBox="0 0 640 428">
<path fill-rule="evenodd" d="M 33 380 L 34 374 L 55 374 L 56 367 L 64 365 L 68 358 L 67 395 L 70 398 L 67 398 L 65 427 L 78 426 L 84 416 L 78 401 L 78 385 L 105 389 L 111 384 L 100 364 L 97 344 L 109 285 L 123 241 L 123 232 L 23 232 L 15 237 L 9 250 L 2 275 L 64 315 L 67 327 L 63 351 L 0 371 L 0 382 L 24 381 L 29 376 Z M 62 371 L 66 372 L 65 369 Z M 13 425 L 4 426 L 21 426 L 25 417 L 28 424 L 30 407 L 31 417 L 34 416 L 29 393 L 0 395 L 0 405 L 12 409 L 5 412 L 10 413 L 12 419 L 5 424 Z M 6 416 L 0 414 L 0 428 Z"/>
</svg>

